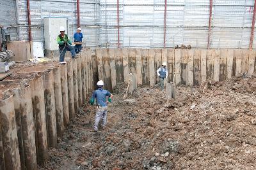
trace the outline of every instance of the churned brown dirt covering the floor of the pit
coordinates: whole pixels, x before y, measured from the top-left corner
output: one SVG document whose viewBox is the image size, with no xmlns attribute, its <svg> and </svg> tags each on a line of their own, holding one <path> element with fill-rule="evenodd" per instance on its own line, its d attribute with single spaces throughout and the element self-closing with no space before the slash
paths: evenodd
<svg viewBox="0 0 256 170">
<path fill-rule="evenodd" d="M 177 87 L 168 104 L 156 88 L 123 96 L 99 132 L 95 106 L 79 110 L 45 169 L 256 169 L 256 76 Z"/>
</svg>

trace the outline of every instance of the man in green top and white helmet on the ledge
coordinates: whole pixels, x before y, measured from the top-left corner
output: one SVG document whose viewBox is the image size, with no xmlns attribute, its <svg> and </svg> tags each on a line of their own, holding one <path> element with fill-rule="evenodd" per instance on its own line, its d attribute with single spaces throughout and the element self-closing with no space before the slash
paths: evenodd
<svg viewBox="0 0 256 170">
<path fill-rule="evenodd" d="M 60 62 L 64 62 L 65 54 L 67 51 L 71 52 L 72 59 L 76 58 L 76 52 L 74 43 L 70 39 L 68 39 L 68 35 L 65 34 L 65 28 L 60 27 L 60 35 L 57 37 L 58 45 L 59 45 L 59 51 L 60 51 Z"/>
</svg>

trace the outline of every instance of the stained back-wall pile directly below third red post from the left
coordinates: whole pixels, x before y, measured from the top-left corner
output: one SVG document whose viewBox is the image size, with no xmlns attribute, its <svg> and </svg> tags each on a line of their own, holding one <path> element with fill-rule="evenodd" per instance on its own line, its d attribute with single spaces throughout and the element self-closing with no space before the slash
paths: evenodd
<svg viewBox="0 0 256 170">
<path fill-rule="evenodd" d="M 115 49 L 116 81 L 124 82 L 123 52 L 121 48 Z"/>
</svg>

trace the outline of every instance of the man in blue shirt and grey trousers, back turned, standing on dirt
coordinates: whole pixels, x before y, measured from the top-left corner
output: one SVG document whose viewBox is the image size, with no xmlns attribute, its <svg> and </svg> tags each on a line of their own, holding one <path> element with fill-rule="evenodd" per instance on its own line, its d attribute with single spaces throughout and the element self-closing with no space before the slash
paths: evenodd
<svg viewBox="0 0 256 170">
<path fill-rule="evenodd" d="M 107 112 L 108 112 L 108 102 L 111 102 L 111 99 L 113 95 L 108 91 L 104 90 L 104 82 L 102 80 L 97 82 L 98 89 L 95 90 L 92 94 L 92 97 L 90 99 L 90 104 L 94 104 L 94 99 L 97 100 L 97 112 L 95 115 L 95 124 L 94 124 L 94 131 L 98 131 L 98 124 L 100 121 L 100 118 L 102 118 L 102 129 L 106 127 L 107 124 Z M 108 96 L 108 102 L 107 102 L 107 96 Z"/>
</svg>

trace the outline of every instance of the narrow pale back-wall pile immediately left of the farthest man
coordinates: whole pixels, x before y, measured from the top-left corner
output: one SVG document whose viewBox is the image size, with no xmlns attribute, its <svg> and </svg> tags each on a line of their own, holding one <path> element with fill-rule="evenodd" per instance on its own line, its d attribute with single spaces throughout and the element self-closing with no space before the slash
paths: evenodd
<svg viewBox="0 0 256 170">
<path fill-rule="evenodd" d="M 149 69 L 149 85 L 150 87 L 154 87 L 155 79 L 156 79 L 156 69 L 155 69 L 155 57 L 154 57 L 154 49 L 150 48 L 148 50 L 148 69 Z"/>
</svg>

